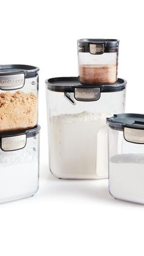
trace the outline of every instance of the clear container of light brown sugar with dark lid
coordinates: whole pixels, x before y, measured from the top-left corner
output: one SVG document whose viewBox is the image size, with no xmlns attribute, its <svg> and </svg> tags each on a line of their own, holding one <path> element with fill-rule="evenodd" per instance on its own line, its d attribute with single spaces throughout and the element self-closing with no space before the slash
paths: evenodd
<svg viewBox="0 0 144 256">
<path fill-rule="evenodd" d="M 38 70 L 29 65 L 0 65 L 0 133 L 37 125 Z"/>
</svg>

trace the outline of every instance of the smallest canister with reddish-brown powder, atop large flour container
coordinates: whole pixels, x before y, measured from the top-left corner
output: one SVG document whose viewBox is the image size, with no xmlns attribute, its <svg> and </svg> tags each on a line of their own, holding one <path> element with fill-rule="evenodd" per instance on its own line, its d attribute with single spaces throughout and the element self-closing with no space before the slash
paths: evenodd
<svg viewBox="0 0 144 256">
<path fill-rule="evenodd" d="M 79 81 L 82 84 L 115 84 L 118 68 L 117 39 L 80 39 Z"/>
</svg>

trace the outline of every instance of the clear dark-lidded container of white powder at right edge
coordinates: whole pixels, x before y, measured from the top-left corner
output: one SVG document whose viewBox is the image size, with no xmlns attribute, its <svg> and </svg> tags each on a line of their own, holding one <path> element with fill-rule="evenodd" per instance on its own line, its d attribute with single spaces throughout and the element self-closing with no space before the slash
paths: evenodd
<svg viewBox="0 0 144 256">
<path fill-rule="evenodd" d="M 109 123 L 109 192 L 144 203 L 144 115 L 118 114 Z"/>
</svg>

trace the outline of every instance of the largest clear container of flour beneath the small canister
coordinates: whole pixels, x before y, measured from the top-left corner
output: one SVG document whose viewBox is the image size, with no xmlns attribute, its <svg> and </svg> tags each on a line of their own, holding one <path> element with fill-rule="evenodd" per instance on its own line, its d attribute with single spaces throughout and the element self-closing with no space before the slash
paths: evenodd
<svg viewBox="0 0 144 256">
<path fill-rule="evenodd" d="M 77 77 L 46 80 L 49 169 L 58 178 L 108 177 L 106 117 L 124 112 L 126 81 L 84 86 Z"/>
</svg>

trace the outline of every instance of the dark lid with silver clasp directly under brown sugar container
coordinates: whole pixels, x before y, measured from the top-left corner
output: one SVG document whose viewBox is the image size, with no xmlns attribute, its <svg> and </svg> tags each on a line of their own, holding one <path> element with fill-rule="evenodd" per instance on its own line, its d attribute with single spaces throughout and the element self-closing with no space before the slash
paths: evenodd
<svg viewBox="0 0 144 256">
<path fill-rule="evenodd" d="M 35 137 L 39 132 L 40 126 L 37 125 L 29 130 L 0 133 L 0 148 L 5 152 L 20 150 L 26 146 L 28 137 Z"/>
</svg>

